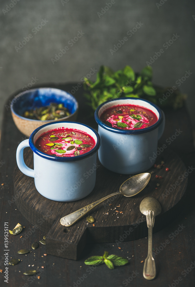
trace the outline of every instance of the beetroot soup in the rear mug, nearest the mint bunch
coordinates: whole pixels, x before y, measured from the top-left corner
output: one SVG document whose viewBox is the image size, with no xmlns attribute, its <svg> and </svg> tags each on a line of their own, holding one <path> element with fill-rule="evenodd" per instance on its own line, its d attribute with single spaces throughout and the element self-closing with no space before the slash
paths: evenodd
<svg viewBox="0 0 195 287">
<path fill-rule="evenodd" d="M 157 116 L 147 108 L 134 105 L 112 106 L 102 113 L 100 119 L 117 129 L 144 129 L 158 121 Z"/>
</svg>

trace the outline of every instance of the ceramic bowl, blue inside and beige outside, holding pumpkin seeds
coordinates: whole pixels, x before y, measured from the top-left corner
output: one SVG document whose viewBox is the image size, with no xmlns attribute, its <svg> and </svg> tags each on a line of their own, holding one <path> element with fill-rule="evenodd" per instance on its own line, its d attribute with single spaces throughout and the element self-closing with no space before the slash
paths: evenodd
<svg viewBox="0 0 195 287">
<path fill-rule="evenodd" d="M 21 92 L 11 101 L 11 114 L 19 131 L 29 137 L 31 133 L 41 125 L 55 121 L 31 120 L 22 116 L 26 110 L 47 106 L 50 102 L 57 104 L 63 103 L 71 113 L 71 115 L 57 119 L 56 121 L 76 120 L 78 102 L 71 94 L 55 88 L 36 88 Z"/>
</svg>

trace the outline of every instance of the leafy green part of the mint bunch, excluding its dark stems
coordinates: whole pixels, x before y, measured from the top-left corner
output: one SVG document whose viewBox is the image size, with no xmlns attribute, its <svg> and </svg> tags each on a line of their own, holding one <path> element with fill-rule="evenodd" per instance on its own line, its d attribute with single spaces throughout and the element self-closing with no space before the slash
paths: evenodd
<svg viewBox="0 0 195 287">
<path fill-rule="evenodd" d="M 136 74 L 130 66 L 116 72 L 109 67 L 101 66 L 95 83 L 85 77 L 83 85 L 90 94 L 85 96 L 95 110 L 100 104 L 112 98 L 155 96 L 156 90 L 151 80 L 150 66 L 142 69 L 140 74 Z"/>
</svg>

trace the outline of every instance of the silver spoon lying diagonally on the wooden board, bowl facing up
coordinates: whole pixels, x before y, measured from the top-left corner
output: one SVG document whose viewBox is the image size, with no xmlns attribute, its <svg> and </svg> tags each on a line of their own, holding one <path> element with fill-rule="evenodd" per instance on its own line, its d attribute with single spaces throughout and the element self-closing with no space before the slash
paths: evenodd
<svg viewBox="0 0 195 287">
<path fill-rule="evenodd" d="M 102 199 L 99 199 L 98 201 L 95 201 L 69 215 L 66 215 L 60 219 L 60 223 L 64 226 L 71 226 L 75 222 L 77 222 L 81 217 L 83 217 L 85 214 L 89 212 L 92 208 L 94 208 L 96 205 L 100 204 L 102 201 L 117 195 L 122 194 L 126 197 L 131 197 L 136 194 L 138 194 L 146 185 L 148 184 L 150 180 L 150 173 L 144 172 L 137 175 L 134 175 L 130 179 L 127 179 L 121 186 L 120 191 L 114 192 L 110 195 L 107 195 L 103 197 Z"/>
</svg>

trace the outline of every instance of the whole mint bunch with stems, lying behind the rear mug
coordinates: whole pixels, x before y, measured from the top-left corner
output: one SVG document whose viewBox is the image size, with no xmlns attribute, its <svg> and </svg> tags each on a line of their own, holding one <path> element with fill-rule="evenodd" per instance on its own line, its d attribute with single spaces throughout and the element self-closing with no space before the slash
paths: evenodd
<svg viewBox="0 0 195 287">
<path fill-rule="evenodd" d="M 150 66 L 144 67 L 140 73 L 135 73 L 130 66 L 115 72 L 102 65 L 94 83 L 87 77 L 84 78 L 85 97 L 93 110 L 107 100 L 120 97 L 142 98 L 160 107 L 182 107 L 186 95 L 181 94 L 177 88 L 171 88 L 170 93 L 168 88 L 154 87 L 152 75 Z"/>
</svg>

